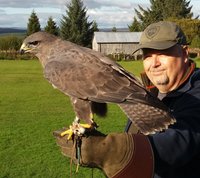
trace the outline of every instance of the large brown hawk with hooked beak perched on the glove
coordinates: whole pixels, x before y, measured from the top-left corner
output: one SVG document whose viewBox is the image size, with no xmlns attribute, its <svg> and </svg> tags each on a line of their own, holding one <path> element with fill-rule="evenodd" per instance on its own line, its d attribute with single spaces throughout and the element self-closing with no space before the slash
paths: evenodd
<svg viewBox="0 0 200 178">
<path fill-rule="evenodd" d="M 28 36 L 20 50 L 37 56 L 45 78 L 71 98 L 76 126 L 81 119 L 95 125 L 93 114 L 105 114 L 105 103 L 118 104 L 145 135 L 175 122 L 168 108 L 133 74 L 97 51 L 46 32 Z"/>
</svg>

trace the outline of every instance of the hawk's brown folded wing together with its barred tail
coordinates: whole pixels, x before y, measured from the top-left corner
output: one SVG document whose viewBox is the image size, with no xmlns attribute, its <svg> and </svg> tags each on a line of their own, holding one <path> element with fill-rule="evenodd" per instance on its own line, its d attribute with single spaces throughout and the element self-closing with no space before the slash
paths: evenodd
<svg viewBox="0 0 200 178">
<path fill-rule="evenodd" d="M 120 104 L 133 123 L 145 133 L 160 131 L 174 122 L 168 108 L 152 97 L 132 74 L 88 49 L 75 46 L 65 51 L 46 64 L 45 76 L 70 96 Z"/>
</svg>

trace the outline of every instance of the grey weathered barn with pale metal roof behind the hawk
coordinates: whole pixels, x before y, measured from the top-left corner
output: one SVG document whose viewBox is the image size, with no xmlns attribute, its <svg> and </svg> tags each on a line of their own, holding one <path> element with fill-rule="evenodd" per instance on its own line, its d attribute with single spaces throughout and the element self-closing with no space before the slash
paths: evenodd
<svg viewBox="0 0 200 178">
<path fill-rule="evenodd" d="M 94 32 L 92 49 L 106 55 L 132 54 L 141 34 L 142 32 Z"/>
</svg>

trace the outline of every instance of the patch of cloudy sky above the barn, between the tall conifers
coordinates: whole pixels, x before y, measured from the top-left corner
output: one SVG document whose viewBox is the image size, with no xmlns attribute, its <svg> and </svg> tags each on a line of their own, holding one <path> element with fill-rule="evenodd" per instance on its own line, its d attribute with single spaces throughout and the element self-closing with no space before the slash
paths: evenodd
<svg viewBox="0 0 200 178">
<path fill-rule="evenodd" d="M 85 0 L 90 19 L 95 20 L 99 27 L 128 27 L 133 21 L 134 8 L 138 3 L 131 0 Z M 148 4 L 142 5 L 144 8 Z"/>
</svg>

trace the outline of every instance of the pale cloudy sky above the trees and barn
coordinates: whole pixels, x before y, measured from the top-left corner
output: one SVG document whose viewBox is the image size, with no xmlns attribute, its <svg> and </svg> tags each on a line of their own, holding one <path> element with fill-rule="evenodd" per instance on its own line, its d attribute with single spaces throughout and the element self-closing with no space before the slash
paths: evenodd
<svg viewBox="0 0 200 178">
<path fill-rule="evenodd" d="M 57 25 L 66 15 L 66 4 L 71 0 L 0 0 L 0 27 L 26 28 L 33 12 L 41 27 L 46 26 L 51 16 Z M 99 28 L 127 28 L 138 5 L 150 7 L 149 0 L 83 0 L 89 21 L 95 20 Z M 194 17 L 200 15 L 200 0 L 190 0 Z"/>
</svg>

